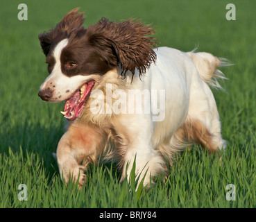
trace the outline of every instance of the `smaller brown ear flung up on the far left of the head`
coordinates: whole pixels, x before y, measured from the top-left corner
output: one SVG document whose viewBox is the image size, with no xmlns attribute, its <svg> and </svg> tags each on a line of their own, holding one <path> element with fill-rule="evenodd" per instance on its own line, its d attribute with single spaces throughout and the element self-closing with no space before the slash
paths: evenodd
<svg viewBox="0 0 256 222">
<path fill-rule="evenodd" d="M 49 32 L 41 33 L 38 36 L 45 56 L 48 55 L 51 44 L 56 38 L 61 40 L 65 37 L 69 37 L 74 31 L 84 30 L 82 25 L 85 18 L 83 17 L 83 12 L 78 13 L 78 9 L 79 8 L 75 8 L 71 10 L 71 12 L 68 12 L 55 28 L 51 29 Z"/>
</svg>

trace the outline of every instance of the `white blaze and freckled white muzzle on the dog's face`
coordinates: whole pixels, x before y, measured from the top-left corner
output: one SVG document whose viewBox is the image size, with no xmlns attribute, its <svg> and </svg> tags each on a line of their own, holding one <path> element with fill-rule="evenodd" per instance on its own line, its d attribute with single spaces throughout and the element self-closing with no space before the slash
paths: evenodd
<svg viewBox="0 0 256 222">
<path fill-rule="evenodd" d="M 62 73 L 60 56 L 68 42 L 69 40 L 66 38 L 56 45 L 56 48 L 53 50 L 53 57 L 56 60 L 56 64 L 54 65 L 51 74 L 44 80 L 44 83 L 42 83 L 40 87 L 40 90 L 47 88 L 53 90 L 53 96 L 49 99 L 51 102 L 59 102 L 69 99 L 74 92 L 89 79 L 89 76 L 77 75 L 68 77 Z"/>
</svg>

